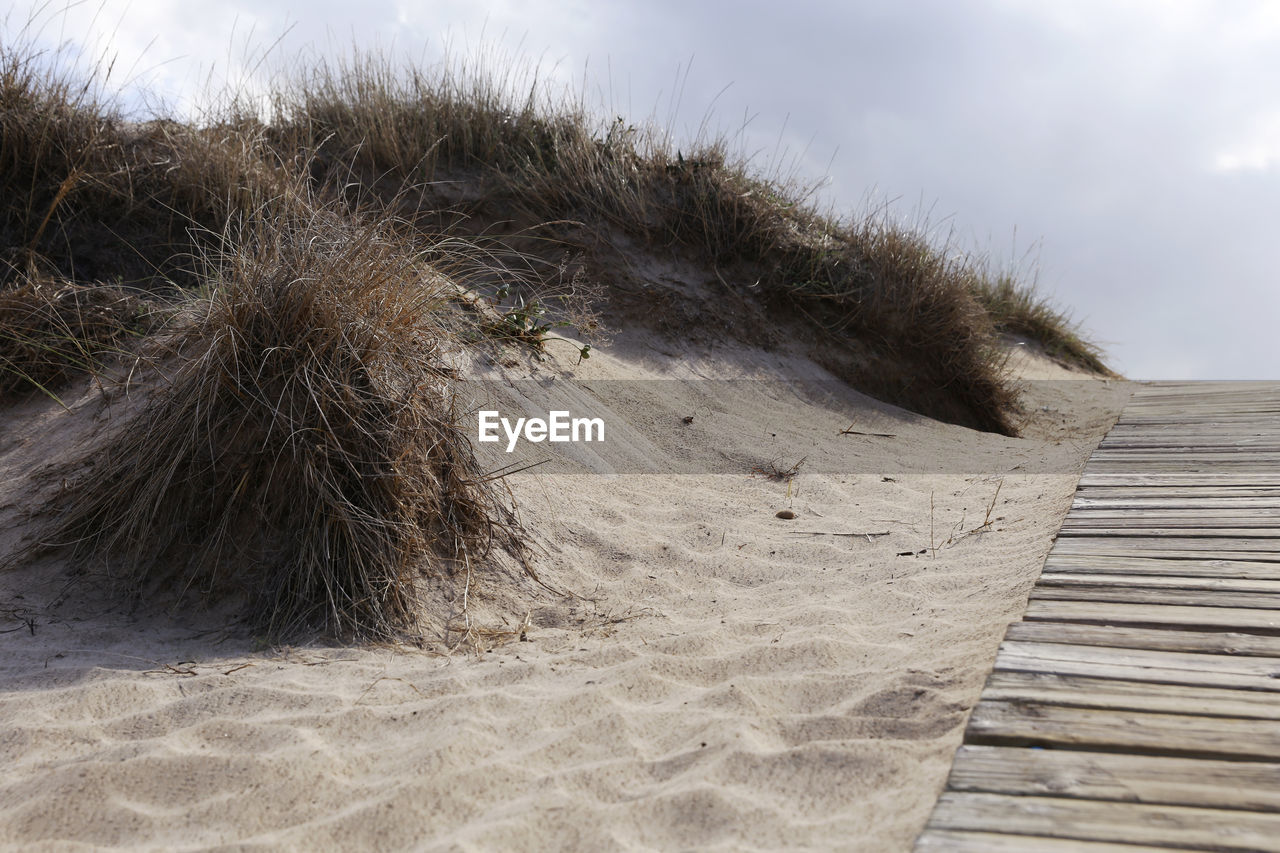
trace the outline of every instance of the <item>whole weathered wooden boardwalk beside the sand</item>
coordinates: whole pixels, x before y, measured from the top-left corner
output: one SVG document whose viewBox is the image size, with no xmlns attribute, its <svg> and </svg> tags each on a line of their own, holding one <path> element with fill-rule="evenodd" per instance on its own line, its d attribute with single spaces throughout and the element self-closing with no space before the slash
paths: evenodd
<svg viewBox="0 0 1280 853">
<path fill-rule="evenodd" d="M 1134 394 L 915 849 L 1280 850 L 1280 383 Z"/>
</svg>

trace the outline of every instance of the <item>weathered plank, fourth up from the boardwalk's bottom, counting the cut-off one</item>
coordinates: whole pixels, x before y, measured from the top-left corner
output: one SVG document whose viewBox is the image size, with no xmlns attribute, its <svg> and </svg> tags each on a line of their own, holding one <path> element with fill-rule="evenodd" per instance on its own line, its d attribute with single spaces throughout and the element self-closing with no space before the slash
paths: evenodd
<svg viewBox="0 0 1280 853">
<path fill-rule="evenodd" d="M 965 743 L 1276 762 L 1280 722 L 983 699 Z"/>
</svg>

